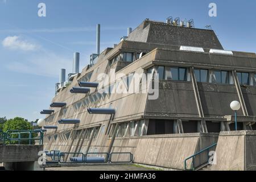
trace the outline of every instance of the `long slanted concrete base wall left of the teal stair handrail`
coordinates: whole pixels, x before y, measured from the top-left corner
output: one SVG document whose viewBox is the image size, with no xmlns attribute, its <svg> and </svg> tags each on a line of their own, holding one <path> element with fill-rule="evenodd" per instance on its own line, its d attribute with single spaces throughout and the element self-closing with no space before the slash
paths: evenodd
<svg viewBox="0 0 256 182">
<path fill-rule="evenodd" d="M 184 169 L 184 160 L 197 151 L 216 143 L 218 134 L 170 134 L 116 139 L 112 152 L 132 152 L 134 163 L 151 166 Z M 205 163 L 205 156 L 196 159 L 196 165 Z M 115 156 L 114 160 L 127 160 L 127 155 Z M 187 167 L 191 167 L 189 160 Z"/>
</svg>

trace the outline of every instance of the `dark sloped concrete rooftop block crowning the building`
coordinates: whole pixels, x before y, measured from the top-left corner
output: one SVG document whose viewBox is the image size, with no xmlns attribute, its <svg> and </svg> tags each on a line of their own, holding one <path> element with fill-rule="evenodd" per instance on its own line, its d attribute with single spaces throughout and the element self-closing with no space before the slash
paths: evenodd
<svg viewBox="0 0 256 182">
<path fill-rule="evenodd" d="M 131 32 L 127 40 L 172 46 L 223 49 L 213 30 L 177 27 L 150 20 L 145 20 L 140 24 Z"/>
</svg>

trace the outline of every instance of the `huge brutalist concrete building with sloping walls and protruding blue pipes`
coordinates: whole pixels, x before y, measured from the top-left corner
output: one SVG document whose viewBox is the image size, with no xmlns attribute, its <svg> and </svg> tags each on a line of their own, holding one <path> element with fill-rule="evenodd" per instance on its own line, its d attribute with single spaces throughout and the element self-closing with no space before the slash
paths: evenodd
<svg viewBox="0 0 256 182">
<path fill-rule="evenodd" d="M 232 101 L 241 103 L 238 130 L 256 130 L 255 53 L 224 50 L 213 30 L 146 19 L 114 48 L 91 57 L 90 65 L 56 90 L 49 108 L 53 111 L 44 123 L 55 129 L 44 135 L 45 150 L 131 152 L 134 163 L 183 170 L 203 168 L 208 153 L 187 163 L 185 159 L 217 143 L 210 150 L 216 148 L 217 161 L 226 161 L 209 168 L 256 169 L 256 133 L 233 131 L 234 112 L 229 106 Z M 143 78 L 137 93 L 102 93 L 100 85 L 90 85 L 88 92 L 76 89 L 80 82 L 100 83 L 102 73 L 114 73 L 106 84 L 110 91 L 120 85 L 133 89 L 134 75 L 142 73 L 151 75 L 147 81 L 154 85 L 158 73 L 158 97 L 150 99 L 156 93 L 149 85 L 142 86 Z M 93 114 L 88 108 L 114 110 L 114 114 Z M 58 122 L 61 119 L 69 121 Z M 236 153 L 237 148 L 241 152 L 234 162 L 234 156 L 227 158 L 225 152 Z M 125 158 L 115 156 L 117 161 Z"/>
</svg>

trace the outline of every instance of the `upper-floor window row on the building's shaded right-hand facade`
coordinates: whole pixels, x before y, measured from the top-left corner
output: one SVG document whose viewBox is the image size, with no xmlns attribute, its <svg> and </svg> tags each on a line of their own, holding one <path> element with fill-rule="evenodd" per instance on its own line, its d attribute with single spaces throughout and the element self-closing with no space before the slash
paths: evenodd
<svg viewBox="0 0 256 182">
<path fill-rule="evenodd" d="M 154 67 L 147 70 L 147 73 L 152 73 Z M 190 81 L 188 68 L 181 67 L 155 67 L 155 73 L 159 74 L 159 80 L 175 80 L 175 81 Z M 195 77 L 198 82 L 213 82 L 218 84 L 233 84 L 230 80 L 229 71 L 194 69 Z M 250 85 L 250 74 L 245 72 L 237 72 L 238 81 L 242 85 Z M 256 74 L 254 76 L 254 85 L 256 85 Z"/>
</svg>

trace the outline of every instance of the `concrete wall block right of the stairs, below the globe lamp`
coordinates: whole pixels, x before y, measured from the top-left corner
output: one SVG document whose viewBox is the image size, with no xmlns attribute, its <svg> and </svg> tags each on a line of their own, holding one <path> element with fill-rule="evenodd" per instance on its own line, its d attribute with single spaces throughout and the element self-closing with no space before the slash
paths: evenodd
<svg viewBox="0 0 256 182">
<path fill-rule="evenodd" d="M 256 170 L 256 131 L 221 132 L 212 170 Z"/>
</svg>

